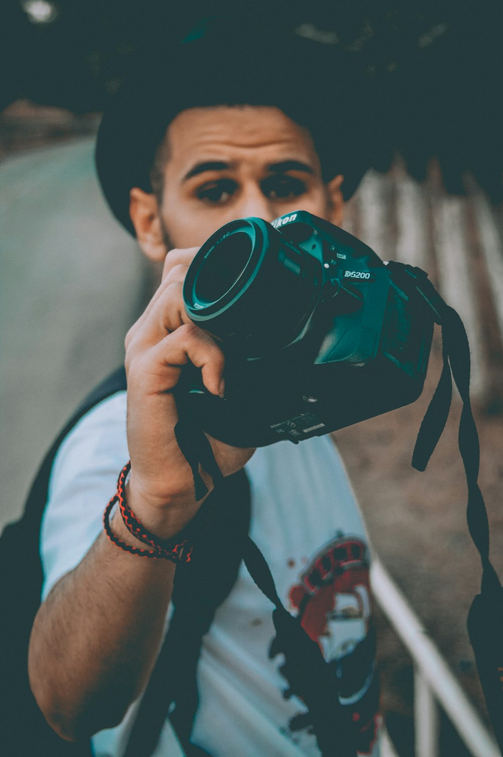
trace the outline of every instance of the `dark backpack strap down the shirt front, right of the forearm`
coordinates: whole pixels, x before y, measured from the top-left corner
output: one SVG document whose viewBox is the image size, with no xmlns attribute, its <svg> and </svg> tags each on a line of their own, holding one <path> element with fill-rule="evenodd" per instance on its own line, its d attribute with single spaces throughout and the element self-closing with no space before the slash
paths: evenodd
<svg viewBox="0 0 503 757">
<path fill-rule="evenodd" d="M 203 635 L 234 586 L 250 522 L 250 484 L 243 470 L 223 478 L 203 504 L 211 519 L 188 565 L 177 567 L 169 630 L 141 700 L 123 757 L 150 757 L 169 721 L 186 755 L 202 755 L 190 743 L 198 696 L 196 667 Z"/>
</svg>

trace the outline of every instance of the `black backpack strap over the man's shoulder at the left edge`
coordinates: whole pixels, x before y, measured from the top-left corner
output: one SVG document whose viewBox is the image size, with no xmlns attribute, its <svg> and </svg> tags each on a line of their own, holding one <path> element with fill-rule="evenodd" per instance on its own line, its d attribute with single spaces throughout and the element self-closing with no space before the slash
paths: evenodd
<svg viewBox="0 0 503 757">
<path fill-rule="evenodd" d="M 40 606 L 42 563 L 39 533 L 47 501 L 54 456 L 74 425 L 101 400 L 126 389 L 126 372 L 113 372 L 90 394 L 57 436 L 29 492 L 23 516 L 0 537 L 0 711 L 2 747 L 10 757 L 81 757 L 90 755 L 85 744 L 57 737 L 45 722 L 29 688 L 27 655 L 29 634 Z"/>
</svg>

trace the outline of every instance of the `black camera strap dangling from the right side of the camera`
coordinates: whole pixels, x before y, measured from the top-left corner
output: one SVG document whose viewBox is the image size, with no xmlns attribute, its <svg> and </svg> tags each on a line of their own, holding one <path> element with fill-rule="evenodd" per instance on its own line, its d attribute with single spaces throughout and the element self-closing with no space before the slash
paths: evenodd
<svg viewBox="0 0 503 757">
<path fill-rule="evenodd" d="M 492 727 L 503 750 L 503 588 L 489 559 L 489 521 L 477 482 L 480 446 L 470 405 L 470 348 L 467 335 L 458 313 L 442 300 L 424 271 L 395 262 L 388 263 L 387 267 L 393 281 L 403 288 L 405 294 L 410 295 L 414 290 L 421 294 L 442 329 L 442 374 L 418 433 L 412 456 L 415 469 L 426 469 L 446 425 L 452 399 L 452 378 L 463 403 L 458 444 L 467 478 L 467 523 L 470 536 L 480 553 L 483 569 L 481 591 L 470 607 L 467 628 Z"/>
</svg>

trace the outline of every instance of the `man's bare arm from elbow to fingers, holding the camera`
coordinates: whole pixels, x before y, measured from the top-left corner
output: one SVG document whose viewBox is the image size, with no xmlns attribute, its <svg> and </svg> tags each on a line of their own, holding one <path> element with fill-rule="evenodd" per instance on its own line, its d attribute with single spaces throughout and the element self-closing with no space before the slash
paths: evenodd
<svg viewBox="0 0 503 757">
<path fill-rule="evenodd" d="M 172 390 L 182 366 L 200 367 L 206 388 L 221 391 L 222 351 L 188 322 L 183 307 L 182 285 L 195 252 L 169 253 L 160 288 L 126 338 L 132 464 L 126 496 L 138 519 L 161 539 L 184 528 L 201 505 L 174 435 Z M 224 475 L 253 454 L 210 442 Z M 203 478 L 211 488 L 210 478 Z M 144 547 L 120 515 L 111 525 L 121 540 Z M 33 625 L 29 678 L 42 712 L 62 737 L 76 740 L 118 724 L 141 693 L 159 650 L 174 572 L 169 561 L 123 552 L 101 534 L 54 586 Z"/>
</svg>

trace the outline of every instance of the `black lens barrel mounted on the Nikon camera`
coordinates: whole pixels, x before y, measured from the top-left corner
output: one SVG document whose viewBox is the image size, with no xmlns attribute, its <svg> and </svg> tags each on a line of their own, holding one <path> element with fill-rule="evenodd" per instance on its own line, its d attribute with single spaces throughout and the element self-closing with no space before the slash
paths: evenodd
<svg viewBox="0 0 503 757">
<path fill-rule="evenodd" d="M 188 316 L 247 357 L 293 341 L 318 301 L 321 263 L 259 218 L 222 226 L 185 277 Z"/>
</svg>

